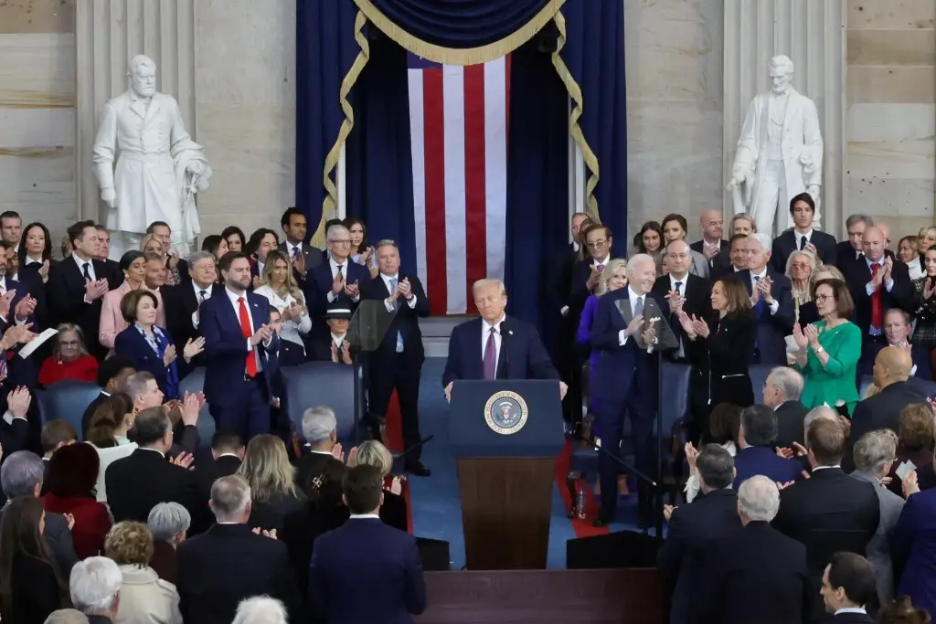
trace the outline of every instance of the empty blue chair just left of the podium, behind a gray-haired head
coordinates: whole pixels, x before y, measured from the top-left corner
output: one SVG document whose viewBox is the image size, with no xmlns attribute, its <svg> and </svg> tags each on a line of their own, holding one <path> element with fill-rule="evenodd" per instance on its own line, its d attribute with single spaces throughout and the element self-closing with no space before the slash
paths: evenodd
<svg viewBox="0 0 936 624">
<path fill-rule="evenodd" d="M 310 407 L 327 405 L 335 413 L 338 442 L 351 448 L 360 439 L 354 426 L 354 371 L 332 362 L 306 362 L 282 369 L 285 396 L 281 409 L 300 432 L 302 414 Z M 363 388 L 361 388 L 363 393 Z M 363 396 L 361 404 L 363 405 Z"/>
</svg>

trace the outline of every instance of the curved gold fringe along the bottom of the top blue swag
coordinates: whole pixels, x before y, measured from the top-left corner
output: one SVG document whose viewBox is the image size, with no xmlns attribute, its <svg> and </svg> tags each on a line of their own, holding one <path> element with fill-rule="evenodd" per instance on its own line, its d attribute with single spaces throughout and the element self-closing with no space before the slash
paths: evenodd
<svg viewBox="0 0 936 624">
<path fill-rule="evenodd" d="M 505 36 L 500 41 L 494 41 L 486 46 L 478 48 L 443 48 L 422 39 L 412 36 L 403 30 L 397 24 L 391 22 L 379 8 L 373 6 L 372 0 L 355 0 L 358 8 L 364 12 L 367 19 L 381 30 L 384 35 L 390 37 L 393 41 L 417 56 L 429 59 L 433 63 L 443 65 L 480 65 L 488 63 L 494 59 L 517 50 L 524 43 L 533 38 L 533 36 L 543 29 L 549 20 L 559 12 L 559 9 L 565 4 L 565 0 L 549 0 L 545 7 L 534 15 L 534 17 L 521 26 L 517 31 Z"/>
</svg>

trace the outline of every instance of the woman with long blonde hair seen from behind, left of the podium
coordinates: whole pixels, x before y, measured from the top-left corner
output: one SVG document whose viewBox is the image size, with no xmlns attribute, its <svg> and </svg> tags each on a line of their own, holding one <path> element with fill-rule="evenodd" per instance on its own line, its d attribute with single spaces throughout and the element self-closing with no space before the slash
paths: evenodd
<svg viewBox="0 0 936 624">
<path fill-rule="evenodd" d="M 237 473 L 250 485 L 250 526 L 254 529 L 283 530 L 285 516 L 305 503 L 305 495 L 296 488 L 296 469 L 289 463 L 285 443 L 274 435 L 258 435 L 247 444 Z"/>
</svg>

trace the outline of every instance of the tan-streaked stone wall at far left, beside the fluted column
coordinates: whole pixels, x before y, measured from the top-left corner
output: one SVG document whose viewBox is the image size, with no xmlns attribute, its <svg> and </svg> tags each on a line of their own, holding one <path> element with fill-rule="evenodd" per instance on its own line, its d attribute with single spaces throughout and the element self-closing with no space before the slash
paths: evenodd
<svg viewBox="0 0 936 624">
<path fill-rule="evenodd" d="M 74 0 L 0 2 L 0 210 L 49 225 L 77 216 Z"/>
</svg>

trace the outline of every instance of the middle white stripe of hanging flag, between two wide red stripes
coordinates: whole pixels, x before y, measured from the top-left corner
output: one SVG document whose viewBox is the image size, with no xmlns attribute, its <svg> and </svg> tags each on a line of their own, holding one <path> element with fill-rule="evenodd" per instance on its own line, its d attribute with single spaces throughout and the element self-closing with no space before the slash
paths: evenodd
<svg viewBox="0 0 936 624">
<path fill-rule="evenodd" d="M 465 119 L 464 71 L 458 65 L 442 68 L 443 129 L 446 151 L 446 312 L 467 310 L 465 269 Z"/>
</svg>

